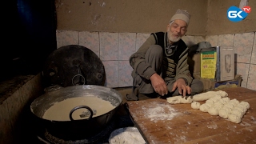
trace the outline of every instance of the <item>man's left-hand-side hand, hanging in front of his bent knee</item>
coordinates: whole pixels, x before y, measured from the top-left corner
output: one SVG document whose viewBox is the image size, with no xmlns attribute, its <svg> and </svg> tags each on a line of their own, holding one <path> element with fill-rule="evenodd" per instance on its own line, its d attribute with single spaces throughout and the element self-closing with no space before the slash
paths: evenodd
<svg viewBox="0 0 256 144">
<path fill-rule="evenodd" d="M 150 81 L 156 93 L 162 96 L 164 96 L 165 94 L 168 94 L 166 82 L 162 79 L 162 77 L 160 77 L 160 75 L 153 74 L 150 77 Z"/>
</svg>

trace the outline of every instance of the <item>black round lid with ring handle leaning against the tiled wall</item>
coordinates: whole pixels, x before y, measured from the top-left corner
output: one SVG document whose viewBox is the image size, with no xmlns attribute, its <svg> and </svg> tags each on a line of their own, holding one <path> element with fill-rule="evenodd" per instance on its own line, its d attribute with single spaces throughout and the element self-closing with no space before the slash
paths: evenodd
<svg viewBox="0 0 256 144">
<path fill-rule="evenodd" d="M 78 45 L 54 50 L 46 59 L 42 75 L 46 86 L 103 86 L 106 80 L 104 65 L 97 54 Z"/>
</svg>

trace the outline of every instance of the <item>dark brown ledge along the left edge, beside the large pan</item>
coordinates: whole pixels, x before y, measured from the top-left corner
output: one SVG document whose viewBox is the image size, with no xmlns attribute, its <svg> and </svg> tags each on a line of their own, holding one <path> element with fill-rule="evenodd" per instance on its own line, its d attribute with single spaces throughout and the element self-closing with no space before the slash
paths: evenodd
<svg viewBox="0 0 256 144">
<path fill-rule="evenodd" d="M 31 139 L 30 103 L 42 93 L 42 74 L 19 76 L 0 83 L 0 143 L 22 143 Z"/>
</svg>

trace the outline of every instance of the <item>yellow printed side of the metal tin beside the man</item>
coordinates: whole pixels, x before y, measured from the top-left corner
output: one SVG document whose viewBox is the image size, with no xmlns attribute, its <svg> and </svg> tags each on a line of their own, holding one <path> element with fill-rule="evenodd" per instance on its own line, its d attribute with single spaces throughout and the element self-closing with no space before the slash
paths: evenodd
<svg viewBox="0 0 256 144">
<path fill-rule="evenodd" d="M 216 62 L 216 51 L 201 52 L 201 78 L 215 78 Z"/>
</svg>

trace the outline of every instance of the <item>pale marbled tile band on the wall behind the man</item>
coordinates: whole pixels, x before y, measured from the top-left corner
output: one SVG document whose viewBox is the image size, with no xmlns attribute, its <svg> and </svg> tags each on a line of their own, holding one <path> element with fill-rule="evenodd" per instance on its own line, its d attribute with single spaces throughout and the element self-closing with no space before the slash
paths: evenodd
<svg viewBox="0 0 256 144">
<path fill-rule="evenodd" d="M 107 87 L 132 86 L 133 70 L 129 57 L 150 34 L 108 33 L 57 30 L 58 48 L 66 45 L 86 46 L 102 60 L 106 70 Z M 256 38 L 255 33 L 192 36 L 183 38 L 187 46 L 207 41 L 212 46 L 234 46 L 236 74 L 242 74 L 242 87 L 256 90 Z"/>
</svg>

